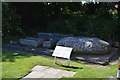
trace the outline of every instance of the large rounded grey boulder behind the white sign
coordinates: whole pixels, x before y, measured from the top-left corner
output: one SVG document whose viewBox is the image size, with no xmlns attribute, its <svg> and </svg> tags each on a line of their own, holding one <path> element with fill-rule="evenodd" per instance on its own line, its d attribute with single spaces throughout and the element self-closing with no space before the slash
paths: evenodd
<svg viewBox="0 0 120 80">
<path fill-rule="evenodd" d="M 57 46 L 72 47 L 74 53 L 106 54 L 111 51 L 108 42 L 99 38 L 66 37 L 58 41 Z"/>
</svg>

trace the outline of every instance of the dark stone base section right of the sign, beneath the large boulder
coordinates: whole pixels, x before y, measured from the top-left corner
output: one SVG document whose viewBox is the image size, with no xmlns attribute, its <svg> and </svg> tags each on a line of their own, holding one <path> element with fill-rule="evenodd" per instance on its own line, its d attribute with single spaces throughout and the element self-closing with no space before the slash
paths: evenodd
<svg viewBox="0 0 120 80">
<path fill-rule="evenodd" d="M 98 64 L 108 64 L 110 61 L 112 61 L 113 58 L 116 58 L 115 56 L 118 56 L 117 48 L 112 48 L 110 53 L 104 55 L 72 54 L 71 58 Z"/>
</svg>

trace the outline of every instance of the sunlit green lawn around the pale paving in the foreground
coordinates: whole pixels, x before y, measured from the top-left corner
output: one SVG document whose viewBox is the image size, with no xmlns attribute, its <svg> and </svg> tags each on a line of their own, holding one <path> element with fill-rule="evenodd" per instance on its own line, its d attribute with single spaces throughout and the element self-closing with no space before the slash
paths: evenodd
<svg viewBox="0 0 120 80">
<path fill-rule="evenodd" d="M 53 62 L 53 58 L 41 57 L 30 53 L 14 53 L 12 51 L 3 50 L 2 78 L 21 78 L 31 72 L 31 68 L 35 65 L 43 65 L 77 72 L 72 78 L 116 77 L 118 70 L 117 64 L 108 67 L 99 67 L 71 61 L 71 66 L 79 68 L 67 68 L 62 66 L 59 61 L 60 65 L 53 65 Z M 63 65 L 66 65 L 66 63 Z"/>
</svg>

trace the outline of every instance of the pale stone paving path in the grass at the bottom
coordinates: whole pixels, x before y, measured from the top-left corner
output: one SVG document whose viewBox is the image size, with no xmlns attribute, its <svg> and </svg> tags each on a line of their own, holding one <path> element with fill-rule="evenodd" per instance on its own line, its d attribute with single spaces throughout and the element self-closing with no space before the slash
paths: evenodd
<svg viewBox="0 0 120 80">
<path fill-rule="evenodd" d="M 72 71 L 66 71 L 56 68 L 51 68 L 47 66 L 35 66 L 32 68 L 32 72 L 23 77 L 21 80 L 27 79 L 27 78 L 61 78 L 62 76 L 65 77 L 72 77 L 75 75 L 76 72 Z"/>
</svg>

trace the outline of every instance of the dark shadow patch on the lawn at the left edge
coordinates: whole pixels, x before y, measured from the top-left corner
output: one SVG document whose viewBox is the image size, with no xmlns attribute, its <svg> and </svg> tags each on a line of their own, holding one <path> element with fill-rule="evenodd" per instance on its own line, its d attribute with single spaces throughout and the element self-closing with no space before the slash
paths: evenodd
<svg viewBox="0 0 120 80">
<path fill-rule="evenodd" d="M 10 50 L 2 51 L 2 62 L 15 62 L 15 59 L 27 58 L 33 56 L 32 53 L 17 53 Z"/>
</svg>

